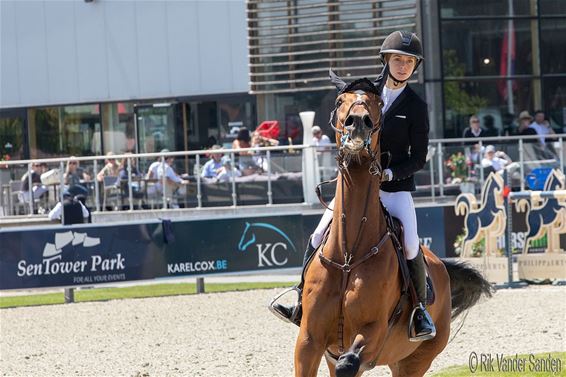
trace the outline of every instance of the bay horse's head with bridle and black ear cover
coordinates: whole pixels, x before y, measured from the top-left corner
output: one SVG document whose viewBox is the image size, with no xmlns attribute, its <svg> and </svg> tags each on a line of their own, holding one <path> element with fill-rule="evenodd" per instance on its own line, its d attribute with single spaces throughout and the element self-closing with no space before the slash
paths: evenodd
<svg viewBox="0 0 566 377">
<path fill-rule="evenodd" d="M 330 125 L 336 131 L 336 144 L 346 162 L 378 161 L 379 131 L 383 101 L 379 88 L 367 78 L 347 84 L 330 71 L 331 81 L 338 88 L 336 107 Z"/>
</svg>

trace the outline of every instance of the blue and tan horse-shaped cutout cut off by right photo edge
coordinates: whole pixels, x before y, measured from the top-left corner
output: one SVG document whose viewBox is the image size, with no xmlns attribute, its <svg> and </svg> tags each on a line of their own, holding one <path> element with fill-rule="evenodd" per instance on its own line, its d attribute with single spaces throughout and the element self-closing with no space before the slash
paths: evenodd
<svg viewBox="0 0 566 377">
<path fill-rule="evenodd" d="M 554 169 L 546 177 L 544 191 L 564 190 L 564 174 L 558 169 Z M 517 201 L 517 211 L 526 212 L 527 236 L 523 246 L 523 254 L 527 254 L 529 243 L 532 240 L 542 237 L 546 232 L 548 240 L 546 252 L 553 252 L 560 249 L 560 234 L 566 232 L 566 198 L 541 198 L 536 192 L 530 199 L 519 199 Z"/>
</svg>

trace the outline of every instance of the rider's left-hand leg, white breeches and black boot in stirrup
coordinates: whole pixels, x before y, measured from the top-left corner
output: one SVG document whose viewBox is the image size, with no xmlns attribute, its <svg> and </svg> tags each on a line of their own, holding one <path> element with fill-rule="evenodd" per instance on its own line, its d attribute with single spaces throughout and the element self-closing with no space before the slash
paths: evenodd
<svg viewBox="0 0 566 377">
<path fill-rule="evenodd" d="M 332 201 L 330 202 L 330 204 L 328 206 L 331 209 L 334 208 L 334 199 L 332 199 Z M 305 268 L 306 268 L 307 264 L 310 262 L 310 260 L 312 259 L 314 251 L 322 243 L 322 239 L 324 237 L 324 233 L 326 231 L 326 228 L 328 228 L 330 221 L 332 221 L 332 210 L 331 209 L 327 209 L 326 211 L 324 211 L 324 214 L 322 215 L 322 218 L 320 219 L 318 226 L 316 227 L 314 233 L 309 238 L 307 250 L 305 251 L 305 256 L 303 258 L 303 271 L 301 272 L 301 282 L 298 285 L 296 285 L 295 287 L 292 288 L 292 290 L 295 290 L 298 293 L 297 302 L 293 306 L 287 306 L 287 305 L 279 304 L 277 302 L 277 299 L 279 297 L 281 297 L 281 295 L 280 295 L 280 296 L 276 297 L 271 302 L 271 304 L 269 305 L 270 309 L 279 318 L 281 318 L 283 320 L 288 320 L 288 321 L 296 324 L 297 326 L 300 325 L 301 316 L 302 316 L 301 299 L 302 299 L 303 285 L 305 283 Z"/>
</svg>

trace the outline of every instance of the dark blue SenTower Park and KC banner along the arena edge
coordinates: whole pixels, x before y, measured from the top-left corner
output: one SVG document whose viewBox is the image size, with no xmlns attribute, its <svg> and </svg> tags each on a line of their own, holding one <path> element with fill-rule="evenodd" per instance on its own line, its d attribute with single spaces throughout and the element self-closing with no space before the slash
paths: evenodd
<svg viewBox="0 0 566 377">
<path fill-rule="evenodd" d="M 525 223 L 513 217 L 518 248 Z M 3 229 L 0 289 L 296 268 L 319 219 L 298 214 Z M 417 219 L 423 244 L 439 257 L 457 256 L 454 243 L 464 224 L 453 207 L 417 208 Z"/>
</svg>

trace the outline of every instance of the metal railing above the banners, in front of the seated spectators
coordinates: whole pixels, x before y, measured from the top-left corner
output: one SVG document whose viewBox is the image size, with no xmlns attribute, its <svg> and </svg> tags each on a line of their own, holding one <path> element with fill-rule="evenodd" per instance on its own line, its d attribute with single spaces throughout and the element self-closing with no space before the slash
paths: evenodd
<svg viewBox="0 0 566 377">
<path fill-rule="evenodd" d="M 429 153 L 427 163 L 422 171 L 415 175 L 417 182 L 416 196 L 423 197 L 425 200 L 437 201 L 446 200 L 460 191 L 457 177 L 452 177 L 451 171 L 446 166 L 446 160 L 450 156 L 459 152 L 467 155 L 473 152 L 473 148 L 479 149 L 488 144 L 496 147 L 496 150 L 504 151 L 513 161 L 518 163 L 516 177 L 518 180 L 517 188 L 526 188 L 526 177 L 533 167 L 559 167 L 564 171 L 565 154 L 564 139 L 566 134 L 546 136 L 546 146 L 534 149 L 534 143 L 539 136 L 511 136 L 487 137 L 476 139 L 432 139 L 429 143 Z M 477 144 L 477 146 L 473 146 Z M 209 206 L 228 206 L 236 207 L 247 204 L 274 205 L 279 203 L 303 203 L 303 179 L 305 174 L 315 174 L 317 181 L 332 178 L 337 174 L 334 155 L 335 145 L 318 147 L 314 154 L 316 165 L 319 170 L 316 172 L 304 172 L 302 159 L 304 151 L 317 148 L 310 145 L 285 145 L 277 147 L 245 148 L 245 149 L 221 149 L 221 150 L 202 150 L 202 151 L 181 151 L 168 153 L 140 153 L 115 155 L 115 159 L 127 159 L 127 179 L 116 181 L 114 187 L 108 187 L 103 182 L 97 182 L 95 176 L 99 167 L 104 165 L 107 156 L 76 157 L 77 160 L 86 165 L 87 171 L 91 172 L 92 179 L 84 181 L 88 188 L 88 204 L 92 211 L 101 212 L 110 210 L 134 211 L 147 208 L 175 208 L 177 205 L 182 207 L 203 208 Z M 543 151 L 542 155 L 533 153 Z M 221 153 L 230 156 L 232 164 L 240 164 L 242 170 L 255 164 L 255 170 L 251 175 L 236 177 L 232 174 L 228 181 L 218 182 L 215 179 L 207 179 L 201 176 L 202 168 L 205 164 L 203 156 Z M 247 155 L 250 153 L 250 155 Z M 308 154 L 307 154 L 308 155 Z M 150 161 L 163 159 L 163 157 L 175 157 L 178 170 L 184 169 L 183 185 L 184 193 L 179 193 L 177 189 L 168 190 L 170 183 L 165 174 L 161 178 L 145 178 L 145 167 Z M 21 180 L 27 171 L 31 171 L 32 164 L 46 163 L 50 169 L 59 170 L 59 180 L 49 185 L 49 194 L 53 197 L 50 204 L 54 205 L 63 199 L 63 192 L 67 188 L 64 181 L 65 165 L 70 158 L 52 158 L 36 160 L 19 160 L 2 162 L 3 169 L 0 169 L 0 217 L 25 215 L 25 216 L 45 216 L 41 211 L 41 201 L 34 198 L 29 191 L 23 198 L 21 195 Z M 481 160 L 481 156 L 480 156 Z M 245 162 L 243 162 L 245 161 Z M 137 163 L 134 163 L 137 162 Z M 143 175 L 136 175 L 132 166 L 142 167 Z M 161 167 L 165 170 L 164 162 Z M 192 172 L 192 174 L 191 174 Z M 486 167 L 481 161 L 476 164 L 473 178 L 476 191 L 483 184 L 487 176 Z M 28 187 L 34 186 L 31 174 L 28 174 Z M 143 187 L 142 187 L 143 186 Z M 152 194 L 149 189 L 154 189 Z M 314 187 L 307 188 L 314 190 Z M 18 192 L 19 191 L 19 192 Z M 182 190 L 181 190 L 182 191 Z M 326 193 L 332 196 L 333 192 Z M 114 197 L 112 197 L 114 195 Z M 24 199 L 24 200 L 22 200 Z M 114 201 L 114 199 L 116 199 Z M 177 201 L 177 202 L 176 202 Z M 110 204 L 109 204 L 110 203 Z M 49 204 L 49 203 L 48 203 Z M 309 203 L 313 204 L 313 203 Z M 48 205 L 49 207 L 49 205 Z"/>
</svg>

